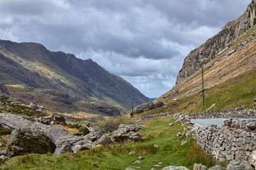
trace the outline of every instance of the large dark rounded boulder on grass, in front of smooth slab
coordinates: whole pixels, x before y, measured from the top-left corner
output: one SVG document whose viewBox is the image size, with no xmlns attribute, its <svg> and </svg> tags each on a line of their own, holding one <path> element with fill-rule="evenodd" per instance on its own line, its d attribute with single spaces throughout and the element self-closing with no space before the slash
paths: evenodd
<svg viewBox="0 0 256 170">
<path fill-rule="evenodd" d="M 23 154 L 46 154 L 54 153 L 55 144 L 50 138 L 39 130 L 30 128 L 19 128 L 11 132 L 5 155 L 14 157 Z"/>
</svg>

